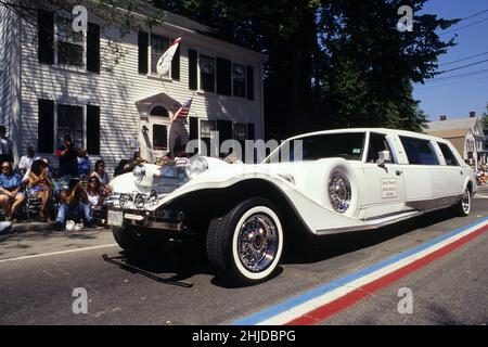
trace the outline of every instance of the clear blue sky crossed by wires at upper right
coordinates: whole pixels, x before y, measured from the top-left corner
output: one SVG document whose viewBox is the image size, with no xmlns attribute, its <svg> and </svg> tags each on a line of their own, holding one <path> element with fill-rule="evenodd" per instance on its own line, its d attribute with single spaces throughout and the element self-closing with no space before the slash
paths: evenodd
<svg viewBox="0 0 488 347">
<path fill-rule="evenodd" d="M 488 0 L 429 0 L 425 3 L 423 12 L 437 14 L 444 18 L 462 18 L 485 10 L 488 10 Z M 484 22 L 461 28 L 480 21 Z M 458 46 L 441 55 L 439 64 L 488 52 L 488 12 L 462 21 L 448 30 L 454 33 L 445 34 L 441 37 L 449 39 L 458 34 Z M 439 66 L 439 70 L 461 67 L 484 60 L 488 60 L 488 53 L 463 62 Z M 488 62 L 442 74 L 426 81 L 425 85 L 415 85 L 413 95 L 421 101 L 421 108 L 429 116 L 431 120 L 438 120 L 439 115 L 447 115 L 448 119 L 467 117 L 470 111 L 481 115 L 488 103 Z"/>
</svg>

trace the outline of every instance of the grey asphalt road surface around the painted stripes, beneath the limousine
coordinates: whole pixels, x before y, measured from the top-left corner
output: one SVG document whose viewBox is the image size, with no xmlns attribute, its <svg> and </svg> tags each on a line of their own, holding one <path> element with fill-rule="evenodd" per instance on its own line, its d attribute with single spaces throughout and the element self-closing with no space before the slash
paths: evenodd
<svg viewBox="0 0 488 347">
<path fill-rule="evenodd" d="M 433 213 L 376 231 L 298 245 L 266 283 L 228 287 L 193 245 L 127 259 L 106 230 L 0 236 L 0 324 L 228 324 L 488 216 L 488 192 L 470 217 Z M 488 323 L 488 233 L 369 295 L 323 324 Z M 129 265 L 129 267 L 127 266 Z M 134 269 L 134 267 L 137 269 Z M 75 288 L 88 313 L 75 314 Z M 397 310 L 411 288 L 413 312 Z"/>
</svg>

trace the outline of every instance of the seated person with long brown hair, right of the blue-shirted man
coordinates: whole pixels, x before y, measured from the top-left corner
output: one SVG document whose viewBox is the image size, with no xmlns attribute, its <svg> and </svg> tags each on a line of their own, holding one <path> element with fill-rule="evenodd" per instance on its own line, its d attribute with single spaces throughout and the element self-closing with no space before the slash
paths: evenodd
<svg viewBox="0 0 488 347">
<path fill-rule="evenodd" d="M 53 193 L 53 183 L 49 178 L 49 167 L 42 159 L 34 160 L 29 178 L 29 196 L 42 200 L 40 217 L 42 221 L 51 222 L 51 198 Z"/>
</svg>

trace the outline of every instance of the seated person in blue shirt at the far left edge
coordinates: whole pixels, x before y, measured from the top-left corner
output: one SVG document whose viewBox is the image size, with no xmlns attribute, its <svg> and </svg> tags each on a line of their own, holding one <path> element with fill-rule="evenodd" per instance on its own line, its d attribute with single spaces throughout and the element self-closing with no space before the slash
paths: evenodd
<svg viewBox="0 0 488 347">
<path fill-rule="evenodd" d="M 22 178 L 14 174 L 10 162 L 2 162 L 0 174 L 0 206 L 5 210 L 8 221 L 16 221 L 18 208 L 25 202 Z"/>
</svg>

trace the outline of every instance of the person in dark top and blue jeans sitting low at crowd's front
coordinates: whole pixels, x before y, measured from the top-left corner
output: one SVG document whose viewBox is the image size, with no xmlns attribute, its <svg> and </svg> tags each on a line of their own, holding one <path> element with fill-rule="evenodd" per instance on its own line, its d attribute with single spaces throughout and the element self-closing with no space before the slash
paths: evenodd
<svg viewBox="0 0 488 347">
<path fill-rule="evenodd" d="M 90 216 L 90 203 L 79 179 L 69 180 L 67 190 L 63 189 L 61 191 L 60 200 L 60 209 L 56 221 L 54 222 L 55 230 L 64 230 L 66 220 L 79 222 L 82 219 L 87 228 L 98 226 L 99 221 Z"/>
</svg>

